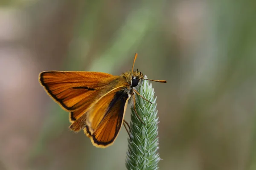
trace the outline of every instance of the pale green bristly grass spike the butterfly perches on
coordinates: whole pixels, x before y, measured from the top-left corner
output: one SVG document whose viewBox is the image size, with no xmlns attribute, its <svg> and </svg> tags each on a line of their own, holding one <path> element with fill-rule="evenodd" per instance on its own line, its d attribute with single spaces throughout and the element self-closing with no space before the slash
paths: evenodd
<svg viewBox="0 0 256 170">
<path fill-rule="evenodd" d="M 158 151 L 158 116 L 154 89 L 147 80 L 139 89 L 139 93 L 149 102 L 137 96 L 136 111 L 143 123 L 138 119 L 132 109 L 131 113 L 131 139 L 128 139 L 128 152 L 126 156 L 126 168 L 128 170 L 157 170 L 160 156 Z"/>
</svg>

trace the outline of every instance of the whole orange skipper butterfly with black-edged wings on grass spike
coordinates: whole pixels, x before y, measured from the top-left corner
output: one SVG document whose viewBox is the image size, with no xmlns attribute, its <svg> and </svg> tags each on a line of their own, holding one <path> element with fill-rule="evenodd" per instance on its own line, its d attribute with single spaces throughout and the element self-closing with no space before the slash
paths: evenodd
<svg viewBox="0 0 256 170">
<path fill-rule="evenodd" d="M 137 53 L 134 62 L 136 58 Z M 44 71 L 39 74 L 39 82 L 55 102 L 70 112 L 70 130 L 83 129 L 94 146 L 105 148 L 113 144 L 122 124 L 128 125 L 124 116 L 130 100 L 135 110 L 134 92 L 141 96 L 135 89 L 145 78 L 138 70 L 133 71 L 134 62 L 131 71 L 121 76 L 87 71 Z M 166 83 L 165 80 L 151 81 Z"/>
</svg>

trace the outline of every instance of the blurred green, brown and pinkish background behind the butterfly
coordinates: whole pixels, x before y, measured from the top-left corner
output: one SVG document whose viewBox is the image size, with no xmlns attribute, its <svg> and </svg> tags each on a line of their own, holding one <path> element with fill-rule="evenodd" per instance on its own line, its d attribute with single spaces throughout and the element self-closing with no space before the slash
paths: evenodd
<svg viewBox="0 0 256 170">
<path fill-rule="evenodd" d="M 38 74 L 119 75 L 135 52 L 168 81 L 152 82 L 160 170 L 256 169 L 255 0 L 0 0 L 0 170 L 125 169 L 125 128 L 93 147 Z"/>
</svg>

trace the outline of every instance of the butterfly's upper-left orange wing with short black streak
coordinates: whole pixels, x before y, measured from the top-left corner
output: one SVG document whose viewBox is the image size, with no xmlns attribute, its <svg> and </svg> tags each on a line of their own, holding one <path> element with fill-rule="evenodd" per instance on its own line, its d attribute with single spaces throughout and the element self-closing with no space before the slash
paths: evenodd
<svg viewBox="0 0 256 170">
<path fill-rule="evenodd" d="M 100 72 L 45 71 L 39 74 L 39 81 L 49 96 L 64 110 L 78 110 L 71 113 L 77 119 L 79 114 L 84 113 L 86 107 L 83 106 L 91 104 L 90 100 L 107 85 L 102 83 L 104 79 L 111 76 Z"/>
</svg>

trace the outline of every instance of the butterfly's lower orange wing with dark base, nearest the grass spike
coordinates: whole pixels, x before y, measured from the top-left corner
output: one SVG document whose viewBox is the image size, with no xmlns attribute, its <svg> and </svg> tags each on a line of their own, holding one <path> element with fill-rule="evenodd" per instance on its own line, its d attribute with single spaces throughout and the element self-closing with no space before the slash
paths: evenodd
<svg viewBox="0 0 256 170">
<path fill-rule="evenodd" d="M 129 98 L 122 86 L 113 89 L 92 105 L 87 113 L 84 133 L 90 137 L 94 146 L 108 147 L 113 144 L 122 126 Z"/>
</svg>

